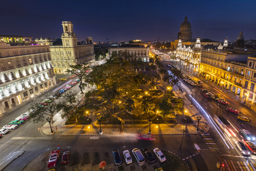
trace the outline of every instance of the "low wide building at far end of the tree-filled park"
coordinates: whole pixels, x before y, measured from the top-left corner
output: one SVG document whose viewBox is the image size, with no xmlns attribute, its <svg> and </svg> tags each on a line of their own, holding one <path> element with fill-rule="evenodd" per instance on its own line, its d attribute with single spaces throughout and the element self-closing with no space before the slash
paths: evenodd
<svg viewBox="0 0 256 171">
<path fill-rule="evenodd" d="M 111 46 L 109 48 L 109 55 L 112 56 L 113 52 L 127 52 L 128 54 L 135 56 L 137 59 L 141 58 L 144 61 L 149 60 L 149 47 L 140 45 L 121 45 L 121 46 Z"/>
</svg>

